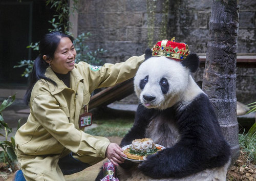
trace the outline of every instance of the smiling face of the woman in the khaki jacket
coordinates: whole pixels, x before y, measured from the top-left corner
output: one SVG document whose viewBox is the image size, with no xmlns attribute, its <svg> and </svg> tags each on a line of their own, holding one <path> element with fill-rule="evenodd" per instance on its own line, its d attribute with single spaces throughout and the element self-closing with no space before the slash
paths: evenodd
<svg viewBox="0 0 256 181">
<path fill-rule="evenodd" d="M 58 74 L 68 74 L 75 66 L 76 50 L 68 37 L 60 39 L 54 52 L 54 58 L 50 59 L 51 68 Z"/>
</svg>

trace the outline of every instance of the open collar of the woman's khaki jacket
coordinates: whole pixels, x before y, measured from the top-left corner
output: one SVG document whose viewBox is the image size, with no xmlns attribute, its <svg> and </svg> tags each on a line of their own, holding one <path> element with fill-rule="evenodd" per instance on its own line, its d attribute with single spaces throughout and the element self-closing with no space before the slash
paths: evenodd
<svg viewBox="0 0 256 181">
<path fill-rule="evenodd" d="M 59 80 L 59 78 L 56 76 L 56 74 L 53 72 L 53 70 L 50 67 L 46 69 L 45 76 L 48 77 L 49 79 L 52 79 L 57 84 L 57 86 L 55 86 L 53 83 L 47 81 L 52 95 L 60 93 L 65 88 L 69 89 L 61 80 Z M 71 82 L 70 88 L 76 92 L 77 85 L 79 81 L 82 81 L 82 80 L 83 78 L 81 74 L 78 72 L 76 68 L 74 68 L 70 73 L 70 82 Z"/>
</svg>

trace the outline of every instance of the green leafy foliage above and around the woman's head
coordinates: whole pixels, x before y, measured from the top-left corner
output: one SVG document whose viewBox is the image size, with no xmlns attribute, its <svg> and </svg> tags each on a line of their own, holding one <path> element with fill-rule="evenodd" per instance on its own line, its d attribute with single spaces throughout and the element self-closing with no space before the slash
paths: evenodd
<svg viewBox="0 0 256 181">
<path fill-rule="evenodd" d="M 77 10 L 78 6 L 78 0 L 73 0 L 74 6 L 71 7 L 71 9 Z M 68 29 L 71 26 L 71 22 L 69 21 L 70 13 L 72 13 L 72 10 L 70 10 L 69 3 L 67 0 L 63 1 L 56 1 L 56 0 L 47 0 L 46 5 L 51 5 L 51 8 L 55 8 L 57 15 L 54 15 L 54 18 L 49 20 L 50 24 L 52 25 L 52 29 L 48 29 L 49 32 L 51 31 L 63 31 L 67 34 L 72 35 Z M 102 65 L 103 61 L 102 59 L 98 58 L 99 55 L 107 52 L 103 49 L 97 49 L 95 51 L 90 51 L 89 46 L 86 45 L 86 40 L 89 39 L 89 37 L 92 34 L 90 32 L 88 33 L 81 33 L 77 36 L 77 38 L 74 39 L 74 46 L 77 52 L 76 56 L 76 63 L 79 61 L 85 61 L 92 65 Z M 39 42 L 31 43 L 29 46 L 27 46 L 28 49 L 33 49 L 33 51 L 39 50 Z M 29 77 L 30 73 L 33 69 L 33 60 L 21 60 L 18 62 L 18 65 L 15 65 L 16 67 L 23 67 L 25 66 L 26 69 L 24 73 L 22 74 L 22 77 Z"/>
</svg>

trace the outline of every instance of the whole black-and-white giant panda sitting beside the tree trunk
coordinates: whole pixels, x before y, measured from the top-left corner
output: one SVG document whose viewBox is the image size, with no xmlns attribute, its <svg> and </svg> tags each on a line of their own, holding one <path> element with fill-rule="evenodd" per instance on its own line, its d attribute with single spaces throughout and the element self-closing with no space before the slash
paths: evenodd
<svg viewBox="0 0 256 181">
<path fill-rule="evenodd" d="M 152 56 L 151 49 L 145 57 L 134 78 L 141 103 L 120 146 L 151 138 L 166 148 L 139 164 L 125 160 L 117 167 L 117 177 L 120 181 L 226 180 L 230 146 L 209 98 L 191 76 L 199 57 L 191 53 L 177 61 Z"/>
</svg>

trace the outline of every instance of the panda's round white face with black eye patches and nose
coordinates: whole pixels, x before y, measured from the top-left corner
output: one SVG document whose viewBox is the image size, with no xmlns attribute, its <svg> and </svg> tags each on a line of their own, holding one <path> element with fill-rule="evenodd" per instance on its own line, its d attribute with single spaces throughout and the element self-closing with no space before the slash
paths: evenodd
<svg viewBox="0 0 256 181">
<path fill-rule="evenodd" d="M 152 57 L 143 62 L 134 79 L 135 92 L 147 108 L 166 109 L 183 95 L 189 71 L 178 61 Z"/>
</svg>

